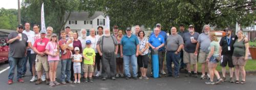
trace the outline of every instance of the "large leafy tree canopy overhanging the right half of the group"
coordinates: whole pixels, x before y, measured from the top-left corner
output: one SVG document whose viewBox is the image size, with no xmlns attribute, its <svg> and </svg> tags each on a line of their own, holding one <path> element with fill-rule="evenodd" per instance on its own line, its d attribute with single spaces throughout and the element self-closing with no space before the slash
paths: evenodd
<svg viewBox="0 0 256 90">
<path fill-rule="evenodd" d="M 95 0 L 94 2 L 99 2 Z M 201 32 L 204 24 L 225 27 L 236 22 L 249 25 L 256 21 L 255 0 L 105 0 L 100 7 L 110 16 L 111 24 L 121 27 L 135 24 L 163 29 L 179 24 L 194 24 Z M 97 4 L 94 4 L 97 5 Z M 101 6 L 102 5 L 102 6 Z"/>
</svg>

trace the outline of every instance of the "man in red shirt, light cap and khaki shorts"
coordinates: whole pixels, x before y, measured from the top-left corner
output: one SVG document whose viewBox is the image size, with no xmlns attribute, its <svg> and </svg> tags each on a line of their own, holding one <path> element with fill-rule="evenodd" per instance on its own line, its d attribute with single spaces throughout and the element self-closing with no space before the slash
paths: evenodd
<svg viewBox="0 0 256 90">
<path fill-rule="evenodd" d="M 48 64 L 48 57 L 45 53 L 45 48 L 49 39 L 46 38 L 46 31 L 40 32 L 40 39 L 37 39 L 33 45 L 33 50 L 37 54 L 35 59 L 35 70 L 37 72 L 37 81 L 35 84 L 41 83 L 41 75 L 42 69 L 46 71 L 46 84 L 49 84 L 49 64 Z"/>
</svg>

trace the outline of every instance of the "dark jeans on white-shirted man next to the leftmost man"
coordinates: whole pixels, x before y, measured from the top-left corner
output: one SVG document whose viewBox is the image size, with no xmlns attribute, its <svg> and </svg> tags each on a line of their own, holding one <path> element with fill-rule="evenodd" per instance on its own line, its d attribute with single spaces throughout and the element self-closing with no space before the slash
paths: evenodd
<svg viewBox="0 0 256 90">
<path fill-rule="evenodd" d="M 32 59 L 30 52 L 31 52 L 30 50 L 27 51 L 27 56 L 26 56 L 26 58 L 24 59 L 23 69 L 22 69 L 22 74 L 24 74 L 24 75 L 25 75 L 26 72 L 27 72 L 27 62 L 28 62 L 28 61 L 29 61 L 29 71 L 32 73 L 32 63 L 33 63 L 33 61 L 34 61 L 35 59 Z"/>
</svg>

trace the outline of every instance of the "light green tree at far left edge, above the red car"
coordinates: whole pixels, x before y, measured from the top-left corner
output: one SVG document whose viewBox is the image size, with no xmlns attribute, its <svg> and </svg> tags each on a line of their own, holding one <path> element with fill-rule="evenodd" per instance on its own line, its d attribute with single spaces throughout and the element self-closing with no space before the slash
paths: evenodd
<svg viewBox="0 0 256 90">
<path fill-rule="evenodd" d="M 16 9 L 0 9 L 0 28 L 15 30 L 17 24 Z"/>
</svg>

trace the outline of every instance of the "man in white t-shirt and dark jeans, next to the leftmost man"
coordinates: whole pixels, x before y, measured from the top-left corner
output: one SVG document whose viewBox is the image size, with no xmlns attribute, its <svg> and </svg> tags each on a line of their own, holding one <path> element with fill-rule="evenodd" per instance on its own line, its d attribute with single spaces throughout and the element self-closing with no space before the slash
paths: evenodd
<svg viewBox="0 0 256 90">
<path fill-rule="evenodd" d="M 28 38 L 32 38 L 35 35 L 35 33 L 30 30 L 30 24 L 28 22 L 25 23 L 25 31 L 23 31 L 23 33 L 26 34 Z M 31 55 L 30 55 L 31 50 L 32 50 L 31 48 L 27 49 L 27 56 L 26 56 L 26 59 L 23 63 L 22 77 L 25 77 L 25 74 L 27 72 L 27 62 L 28 62 L 28 60 L 29 60 L 29 66 L 30 66 L 29 71 L 31 72 L 31 74 L 33 74 L 33 72 L 32 72 L 32 58 L 31 58 Z"/>
</svg>

